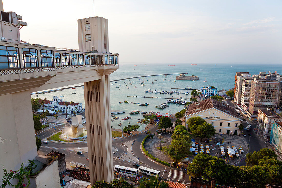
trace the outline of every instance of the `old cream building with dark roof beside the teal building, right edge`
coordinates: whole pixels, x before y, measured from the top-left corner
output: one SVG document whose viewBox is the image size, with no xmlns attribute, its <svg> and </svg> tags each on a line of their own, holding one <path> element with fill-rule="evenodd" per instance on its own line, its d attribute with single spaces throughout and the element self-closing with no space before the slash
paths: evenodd
<svg viewBox="0 0 282 188">
<path fill-rule="evenodd" d="M 258 110 L 257 128 L 259 128 L 259 132 L 264 139 L 270 139 L 270 132 L 274 121 L 282 121 L 282 117 L 273 110 Z"/>
</svg>

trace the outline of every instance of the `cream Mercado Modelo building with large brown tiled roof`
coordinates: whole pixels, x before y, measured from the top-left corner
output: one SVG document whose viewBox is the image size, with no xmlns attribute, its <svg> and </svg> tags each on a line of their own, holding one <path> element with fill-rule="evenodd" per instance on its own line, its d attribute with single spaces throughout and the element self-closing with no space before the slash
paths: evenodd
<svg viewBox="0 0 282 188">
<path fill-rule="evenodd" d="M 238 113 L 228 105 L 222 104 L 215 99 L 206 99 L 190 104 L 185 113 L 185 126 L 191 117 L 199 116 L 213 125 L 216 133 L 239 134 L 239 124 L 242 123 Z"/>
</svg>

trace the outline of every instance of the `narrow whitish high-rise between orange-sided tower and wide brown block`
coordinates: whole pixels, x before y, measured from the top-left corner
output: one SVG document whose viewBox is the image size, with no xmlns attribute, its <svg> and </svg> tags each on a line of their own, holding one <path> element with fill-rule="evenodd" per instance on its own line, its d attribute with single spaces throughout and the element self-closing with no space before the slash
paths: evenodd
<svg viewBox="0 0 282 188">
<path fill-rule="evenodd" d="M 254 80 L 254 78 L 243 78 L 242 93 L 241 93 L 241 107 L 245 111 L 249 109 L 249 100 L 250 100 L 252 80 Z"/>
</svg>

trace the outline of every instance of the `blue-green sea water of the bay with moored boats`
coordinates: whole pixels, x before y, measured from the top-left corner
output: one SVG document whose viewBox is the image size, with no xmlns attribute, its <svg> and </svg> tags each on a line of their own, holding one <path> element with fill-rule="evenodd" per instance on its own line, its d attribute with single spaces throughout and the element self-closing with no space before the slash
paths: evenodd
<svg viewBox="0 0 282 188">
<path fill-rule="evenodd" d="M 136 66 L 134 66 L 136 65 Z M 164 91 L 171 91 L 171 88 L 195 88 L 201 89 L 202 86 L 215 86 L 216 88 L 220 89 L 232 89 L 234 88 L 234 80 L 235 80 L 235 73 L 236 72 L 249 72 L 251 75 L 258 74 L 259 72 L 268 72 L 277 71 L 278 73 L 282 73 L 281 64 L 239 64 L 239 63 L 232 63 L 232 64 L 198 64 L 198 65 L 191 65 L 191 64 L 173 64 L 175 66 L 168 66 L 168 64 L 147 64 L 144 65 L 143 63 L 132 63 L 132 64 L 120 64 L 119 69 L 114 71 L 110 75 L 110 80 L 117 80 L 117 79 L 124 79 L 136 76 L 144 76 L 144 87 L 142 87 L 139 83 L 141 80 L 138 78 L 133 79 L 126 79 L 124 80 L 125 83 L 120 80 L 117 83 L 111 82 L 114 85 L 110 85 L 111 90 L 111 110 L 124 110 L 125 113 L 116 114 L 115 117 L 120 117 L 118 120 L 114 120 L 112 123 L 113 128 L 120 128 L 118 126 L 121 123 L 122 117 L 129 116 L 129 112 L 131 110 L 139 110 L 145 112 L 161 112 L 161 113 L 176 113 L 184 108 L 183 105 L 179 104 L 171 104 L 169 103 L 169 107 L 164 109 L 155 108 L 155 105 L 166 103 L 167 99 L 155 99 L 155 98 L 133 98 L 127 96 L 145 96 L 145 97 L 182 97 L 182 98 L 190 98 L 191 95 L 185 94 L 160 94 L 160 93 L 144 93 L 145 90 L 149 88 L 153 91 L 157 90 L 164 90 Z M 192 82 L 190 80 L 175 80 L 177 75 L 170 75 L 173 73 L 187 73 L 187 75 L 195 75 L 199 76 L 199 80 Z M 164 75 L 162 76 L 149 76 L 146 75 L 158 75 L 158 74 L 167 74 L 165 78 Z M 171 77 L 172 76 L 172 77 Z M 146 81 L 148 79 L 148 81 Z M 165 80 L 164 80 L 165 79 Z M 157 81 L 153 81 L 157 80 Z M 163 81 L 164 80 L 164 81 Z M 169 81 L 172 80 L 172 81 Z M 133 82 L 132 85 L 129 82 Z M 152 81 L 154 84 L 152 84 Z M 206 82 L 203 82 L 206 81 Z M 76 84 L 72 86 L 78 86 L 82 84 Z M 119 88 L 116 88 L 116 86 Z M 129 89 L 127 89 L 127 86 Z M 137 88 L 135 88 L 136 86 Z M 186 90 L 179 90 L 182 92 L 186 92 Z M 74 92 L 74 89 L 64 89 L 63 91 L 56 91 L 51 93 L 45 94 L 37 94 L 31 95 L 31 98 L 41 98 L 43 99 L 46 97 L 49 100 L 52 100 L 53 96 L 60 97 L 63 95 L 63 99 L 67 101 L 74 101 L 74 102 L 81 102 L 82 106 L 84 107 L 84 91 L 82 87 L 76 88 L 76 94 L 71 94 Z M 190 93 L 191 90 L 188 90 Z M 124 102 L 124 100 L 129 101 L 129 103 L 122 103 L 119 104 L 118 102 Z M 133 104 L 131 102 L 139 102 L 139 103 L 149 103 L 149 106 L 139 106 L 138 104 Z M 130 115 L 132 118 L 129 120 L 122 121 L 123 126 L 127 125 L 128 122 L 130 124 L 137 124 L 137 118 L 142 119 L 143 115 L 133 114 Z M 111 117 L 112 118 L 112 117 Z M 142 130 L 144 130 L 144 125 L 142 125 Z M 140 129 L 139 129 L 140 130 Z"/>
</svg>

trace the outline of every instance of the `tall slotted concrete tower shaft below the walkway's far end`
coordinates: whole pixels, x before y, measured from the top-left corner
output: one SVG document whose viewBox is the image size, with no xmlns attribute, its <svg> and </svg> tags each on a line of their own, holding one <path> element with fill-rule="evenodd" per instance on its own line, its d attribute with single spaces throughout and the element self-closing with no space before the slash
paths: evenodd
<svg viewBox="0 0 282 188">
<path fill-rule="evenodd" d="M 91 185 L 113 179 L 109 75 L 84 83 L 85 115 Z"/>
</svg>

